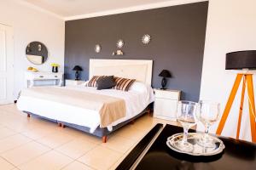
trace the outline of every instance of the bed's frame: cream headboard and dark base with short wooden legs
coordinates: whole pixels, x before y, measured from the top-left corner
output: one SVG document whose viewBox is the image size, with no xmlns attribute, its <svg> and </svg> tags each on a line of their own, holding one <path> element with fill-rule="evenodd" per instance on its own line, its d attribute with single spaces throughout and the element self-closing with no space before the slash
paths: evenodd
<svg viewBox="0 0 256 170">
<path fill-rule="evenodd" d="M 98 76 L 98 75 L 106 75 L 111 76 L 114 75 L 116 77 L 125 77 L 125 78 L 133 78 L 139 82 L 144 82 L 145 84 L 151 85 L 152 78 L 152 60 L 143 60 L 143 59 L 90 59 L 90 75 L 89 77 Z M 27 114 L 27 117 L 36 116 L 40 118 L 44 118 L 51 122 L 58 123 L 60 127 L 73 127 L 79 129 L 85 133 L 89 133 L 95 135 L 97 137 L 102 138 L 102 142 L 107 142 L 107 137 L 109 133 L 113 133 L 120 127 L 125 126 L 126 124 L 133 122 L 139 116 L 142 116 L 144 113 L 148 113 L 150 115 L 152 109 L 152 104 L 149 104 L 144 111 L 142 111 L 137 116 L 132 117 L 131 119 L 121 122 L 116 126 L 113 126 L 112 131 L 108 131 L 107 127 L 97 127 L 94 133 L 90 133 L 89 127 L 79 126 L 69 122 L 60 122 L 58 120 L 49 119 L 48 117 L 38 116 L 35 113 L 31 113 L 28 111 L 24 111 Z"/>
</svg>

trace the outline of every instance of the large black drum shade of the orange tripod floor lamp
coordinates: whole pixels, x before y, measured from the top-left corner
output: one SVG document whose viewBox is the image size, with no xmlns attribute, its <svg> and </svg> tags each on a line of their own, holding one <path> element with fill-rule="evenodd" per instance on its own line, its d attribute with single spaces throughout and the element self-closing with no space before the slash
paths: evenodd
<svg viewBox="0 0 256 170">
<path fill-rule="evenodd" d="M 226 70 L 256 70 L 256 50 L 236 51 L 226 54 Z"/>
</svg>

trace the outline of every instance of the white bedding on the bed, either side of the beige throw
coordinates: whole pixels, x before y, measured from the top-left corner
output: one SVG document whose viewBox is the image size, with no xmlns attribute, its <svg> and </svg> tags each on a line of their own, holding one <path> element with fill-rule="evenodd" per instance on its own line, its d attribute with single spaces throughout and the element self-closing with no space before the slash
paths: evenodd
<svg viewBox="0 0 256 170">
<path fill-rule="evenodd" d="M 153 89 L 141 82 L 135 82 L 128 92 L 115 89 L 96 90 L 96 88 L 84 87 L 83 85 L 56 88 L 80 90 L 125 99 L 126 116 L 108 126 L 109 131 L 112 130 L 113 126 L 120 122 L 125 122 L 131 117 L 137 116 L 148 104 L 154 101 Z M 29 111 L 36 115 L 61 122 L 69 122 L 84 127 L 90 127 L 90 133 L 93 133 L 96 130 L 96 127 L 100 125 L 100 115 L 97 111 L 73 105 L 65 105 L 54 101 L 21 95 L 20 99 L 18 99 L 17 107 L 20 111 Z"/>
</svg>

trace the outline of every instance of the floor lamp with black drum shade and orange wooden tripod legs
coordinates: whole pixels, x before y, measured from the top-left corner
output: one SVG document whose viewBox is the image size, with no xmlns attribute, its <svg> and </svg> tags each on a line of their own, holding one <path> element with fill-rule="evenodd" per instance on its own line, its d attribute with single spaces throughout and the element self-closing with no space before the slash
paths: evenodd
<svg viewBox="0 0 256 170">
<path fill-rule="evenodd" d="M 236 81 L 234 82 L 233 88 L 230 92 L 230 97 L 225 106 L 224 113 L 218 124 L 218 129 L 216 133 L 222 133 L 224 124 L 229 116 L 231 106 L 236 97 L 237 90 L 242 81 L 241 102 L 236 129 L 236 139 L 239 139 L 244 94 L 247 87 L 252 141 L 256 143 L 256 112 L 253 92 L 253 74 L 248 73 L 249 70 L 256 70 L 256 50 L 237 51 L 226 54 L 226 70 L 242 70 L 242 73 L 238 73 L 236 76 Z"/>
</svg>

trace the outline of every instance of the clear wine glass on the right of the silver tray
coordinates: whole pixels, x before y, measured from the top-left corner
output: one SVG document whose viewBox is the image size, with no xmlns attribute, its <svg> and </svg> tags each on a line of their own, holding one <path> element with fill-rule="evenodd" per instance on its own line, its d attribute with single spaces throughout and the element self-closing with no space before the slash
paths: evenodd
<svg viewBox="0 0 256 170">
<path fill-rule="evenodd" d="M 204 125 L 205 133 L 200 139 L 197 139 L 197 143 L 204 147 L 215 147 L 209 136 L 209 128 L 218 121 L 219 118 L 219 103 L 211 101 L 199 101 L 199 110 L 196 112 L 196 118 Z"/>
</svg>

